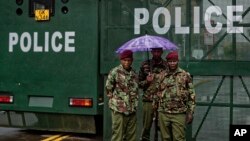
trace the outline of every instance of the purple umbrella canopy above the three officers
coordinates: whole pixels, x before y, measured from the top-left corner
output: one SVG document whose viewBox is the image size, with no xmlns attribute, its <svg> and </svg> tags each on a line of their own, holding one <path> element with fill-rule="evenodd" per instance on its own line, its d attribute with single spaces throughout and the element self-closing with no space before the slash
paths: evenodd
<svg viewBox="0 0 250 141">
<path fill-rule="evenodd" d="M 160 36 L 144 35 L 129 40 L 116 50 L 116 53 L 121 53 L 124 50 L 150 51 L 152 48 L 162 48 L 163 50 L 177 50 L 178 47 L 168 39 Z"/>
</svg>

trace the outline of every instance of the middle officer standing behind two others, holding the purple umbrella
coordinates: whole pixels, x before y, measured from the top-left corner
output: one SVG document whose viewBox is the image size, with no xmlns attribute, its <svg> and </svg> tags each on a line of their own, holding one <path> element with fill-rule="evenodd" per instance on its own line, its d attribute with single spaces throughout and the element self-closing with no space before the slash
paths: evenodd
<svg viewBox="0 0 250 141">
<path fill-rule="evenodd" d="M 143 90 L 143 129 L 141 140 L 150 141 L 150 130 L 155 118 L 157 132 L 157 116 L 156 111 L 153 109 L 153 96 L 157 93 L 157 83 L 155 83 L 154 75 L 159 74 L 161 71 L 167 68 L 166 61 L 162 56 L 162 48 L 153 48 L 151 51 L 152 59 L 146 60 L 142 63 L 139 71 L 139 87 Z M 156 136 L 157 133 L 155 133 Z M 156 137 L 157 138 L 157 137 Z"/>
</svg>

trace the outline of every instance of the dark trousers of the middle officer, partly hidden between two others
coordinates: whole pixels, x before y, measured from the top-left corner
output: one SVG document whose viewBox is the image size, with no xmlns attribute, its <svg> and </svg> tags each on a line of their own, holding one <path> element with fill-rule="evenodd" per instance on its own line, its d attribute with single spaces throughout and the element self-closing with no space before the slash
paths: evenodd
<svg viewBox="0 0 250 141">
<path fill-rule="evenodd" d="M 141 141 L 150 141 L 150 130 L 154 118 L 152 102 L 143 102 L 143 128 Z"/>
</svg>

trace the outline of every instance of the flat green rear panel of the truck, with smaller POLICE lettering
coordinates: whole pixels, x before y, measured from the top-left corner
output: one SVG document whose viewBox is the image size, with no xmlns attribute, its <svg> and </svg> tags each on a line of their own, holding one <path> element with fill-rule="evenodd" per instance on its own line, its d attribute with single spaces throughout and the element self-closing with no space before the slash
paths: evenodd
<svg viewBox="0 0 250 141">
<path fill-rule="evenodd" d="M 99 114 L 98 6 L 98 0 L 65 4 L 56 0 L 54 16 L 38 22 L 29 16 L 28 0 L 22 5 L 0 1 L 0 91 L 14 96 L 14 104 L 1 104 L 1 110 Z M 67 14 L 63 7 L 68 8 Z M 21 15 L 16 13 L 18 8 Z M 17 44 L 12 41 L 13 50 L 10 33 L 18 36 Z M 58 46 L 62 49 L 56 51 Z M 66 51 L 65 46 L 74 51 Z M 29 106 L 29 97 L 43 96 L 52 98 L 52 107 Z M 94 106 L 69 107 L 70 97 L 92 98 Z"/>
</svg>

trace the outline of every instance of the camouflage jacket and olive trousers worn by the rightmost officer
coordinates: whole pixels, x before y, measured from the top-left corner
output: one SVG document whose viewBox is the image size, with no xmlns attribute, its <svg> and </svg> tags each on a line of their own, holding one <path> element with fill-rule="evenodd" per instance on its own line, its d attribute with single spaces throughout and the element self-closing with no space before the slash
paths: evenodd
<svg viewBox="0 0 250 141">
<path fill-rule="evenodd" d="M 159 125 L 163 141 L 185 140 L 185 118 L 195 108 L 195 91 L 190 74 L 181 68 L 159 75 Z M 171 134 L 172 133 L 172 134 Z"/>
</svg>

